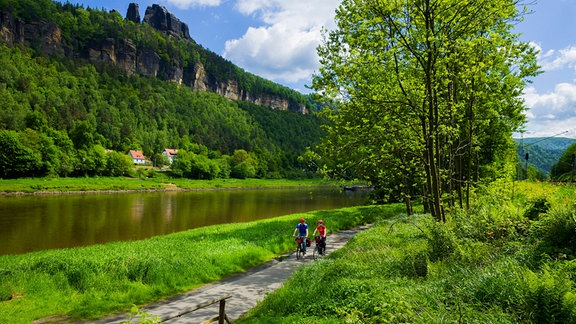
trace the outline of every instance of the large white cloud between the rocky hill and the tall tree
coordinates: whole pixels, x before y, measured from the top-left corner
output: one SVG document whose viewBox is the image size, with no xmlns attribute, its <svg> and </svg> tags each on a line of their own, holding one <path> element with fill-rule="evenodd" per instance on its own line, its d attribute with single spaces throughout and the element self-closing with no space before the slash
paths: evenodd
<svg viewBox="0 0 576 324">
<path fill-rule="evenodd" d="M 236 10 L 262 26 L 226 42 L 224 57 L 276 82 L 309 80 L 318 68 L 323 27 L 333 28 L 339 0 L 238 0 Z"/>
</svg>

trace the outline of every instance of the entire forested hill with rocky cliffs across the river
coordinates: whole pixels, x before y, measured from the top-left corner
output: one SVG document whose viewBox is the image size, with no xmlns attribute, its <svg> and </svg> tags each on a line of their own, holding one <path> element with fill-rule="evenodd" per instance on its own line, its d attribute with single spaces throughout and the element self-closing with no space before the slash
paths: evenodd
<svg viewBox="0 0 576 324">
<path fill-rule="evenodd" d="M 183 152 L 173 169 L 191 178 L 302 170 L 298 156 L 323 134 L 323 121 L 303 114 L 311 101 L 178 30 L 48 0 L 0 0 L 0 178 L 121 175 L 129 150 L 162 165 L 166 148 Z"/>
</svg>

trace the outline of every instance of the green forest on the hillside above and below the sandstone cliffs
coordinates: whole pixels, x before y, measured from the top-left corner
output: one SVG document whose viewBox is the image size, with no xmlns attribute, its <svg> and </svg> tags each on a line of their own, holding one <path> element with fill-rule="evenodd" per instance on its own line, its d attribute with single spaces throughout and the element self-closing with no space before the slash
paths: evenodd
<svg viewBox="0 0 576 324">
<path fill-rule="evenodd" d="M 250 90 L 251 97 L 280 96 L 288 100 L 292 110 L 309 104 L 301 94 L 251 75 L 194 41 L 169 38 L 147 24 L 126 22 L 116 12 L 32 0 L 3 0 L 0 10 L 27 22 L 55 23 L 62 30 L 62 45 L 79 57 L 106 39 L 130 39 L 137 48 L 150 49 L 168 58 L 170 64 L 179 62 L 184 82 L 190 81 L 196 64 L 202 63 L 214 83 L 236 80 L 240 90 Z M 218 152 L 218 156 L 230 155 L 238 149 L 255 153 L 259 162 L 253 166 L 256 174 L 263 177 L 268 172 L 296 168 L 297 156 L 304 151 L 304 145 L 319 140 L 317 130 L 321 121 L 315 116 L 254 105 L 241 109 L 239 105 L 246 107 L 241 102 L 161 81 L 169 78 L 166 68 L 161 67 L 159 79 L 129 77 L 101 62 L 91 65 L 82 59 L 47 57 L 35 46 L 0 46 L 0 66 L 3 66 L 0 130 L 21 133 L 30 128 L 52 138 L 55 147 L 48 145 L 50 152 L 35 152 L 46 154 L 42 156 L 45 163 L 39 166 L 28 163 L 28 167 L 21 167 L 26 172 L 12 172 L 4 177 L 117 173 L 101 170 L 93 165 L 94 161 L 87 162 L 84 158 L 96 145 L 120 153 L 138 148 L 153 158 L 167 147 L 187 149 L 186 143 L 203 145 L 208 151 Z M 283 127 L 266 125 L 266 119 L 256 118 L 260 116 L 268 116 Z M 293 131 L 283 134 L 286 130 Z M 61 139 L 71 140 L 73 148 L 63 147 Z M 50 159 L 45 160 L 47 157 Z M 222 166 L 223 161 L 213 162 L 209 162 L 212 165 L 209 175 L 204 171 L 189 175 L 220 176 L 217 167 L 223 170 L 223 177 L 230 174 L 229 167 Z"/>
</svg>

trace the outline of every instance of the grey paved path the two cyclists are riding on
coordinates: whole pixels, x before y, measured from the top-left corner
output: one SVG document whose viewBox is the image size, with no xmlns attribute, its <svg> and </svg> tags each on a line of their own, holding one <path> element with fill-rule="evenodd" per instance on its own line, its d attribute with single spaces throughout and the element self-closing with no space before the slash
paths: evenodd
<svg viewBox="0 0 576 324">
<path fill-rule="evenodd" d="M 368 227 L 369 225 L 360 226 L 329 235 L 327 253 L 343 247 L 350 237 Z M 314 246 L 314 243 L 312 244 Z M 306 256 L 300 260 L 296 260 L 295 254 L 291 253 L 244 273 L 151 304 L 141 310 L 148 314 L 159 316 L 162 320 L 165 320 L 165 323 L 202 323 L 218 316 L 219 303 L 182 316 L 178 315 L 186 313 L 196 305 L 230 294 L 231 297 L 226 300 L 226 315 L 231 321 L 234 321 L 250 308 L 256 306 L 256 303 L 264 299 L 266 294 L 279 288 L 300 265 L 314 262 L 312 251 L 313 248 L 309 248 Z M 104 318 L 96 323 L 121 323 L 128 319 L 128 317 L 121 315 Z"/>
</svg>

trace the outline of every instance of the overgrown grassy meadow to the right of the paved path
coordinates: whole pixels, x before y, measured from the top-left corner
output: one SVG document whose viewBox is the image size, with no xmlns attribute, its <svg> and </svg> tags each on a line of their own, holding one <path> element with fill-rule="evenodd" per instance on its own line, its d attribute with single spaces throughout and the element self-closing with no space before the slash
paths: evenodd
<svg viewBox="0 0 576 324">
<path fill-rule="evenodd" d="M 445 225 L 381 218 L 235 323 L 576 323 L 575 188 L 481 191 Z"/>
</svg>

